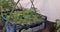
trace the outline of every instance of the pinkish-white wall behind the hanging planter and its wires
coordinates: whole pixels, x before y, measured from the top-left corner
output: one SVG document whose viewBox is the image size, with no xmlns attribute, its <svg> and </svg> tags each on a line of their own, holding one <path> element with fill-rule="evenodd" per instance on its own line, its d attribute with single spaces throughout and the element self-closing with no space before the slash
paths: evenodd
<svg viewBox="0 0 60 32">
<path fill-rule="evenodd" d="M 21 0 L 20 3 L 26 8 L 31 6 L 30 0 Z M 49 21 L 60 19 L 60 0 L 34 0 L 34 5 L 38 8 L 38 13 L 46 15 Z"/>
</svg>

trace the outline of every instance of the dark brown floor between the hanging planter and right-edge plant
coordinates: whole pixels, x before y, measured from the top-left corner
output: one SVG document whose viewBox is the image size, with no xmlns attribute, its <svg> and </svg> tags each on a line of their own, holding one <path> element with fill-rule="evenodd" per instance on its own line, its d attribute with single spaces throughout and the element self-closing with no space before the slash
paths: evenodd
<svg viewBox="0 0 60 32">
<path fill-rule="evenodd" d="M 46 28 L 42 30 L 38 30 L 36 32 L 56 32 L 55 27 L 53 25 L 54 25 L 53 22 L 47 21 Z"/>
</svg>

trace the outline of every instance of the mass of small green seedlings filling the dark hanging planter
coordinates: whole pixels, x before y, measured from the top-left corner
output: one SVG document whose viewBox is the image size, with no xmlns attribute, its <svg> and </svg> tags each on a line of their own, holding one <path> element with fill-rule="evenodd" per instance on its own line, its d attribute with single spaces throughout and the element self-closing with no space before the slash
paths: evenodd
<svg viewBox="0 0 60 32">
<path fill-rule="evenodd" d="M 7 15 L 7 19 L 11 18 L 16 24 L 33 24 L 44 21 L 43 15 L 35 13 L 33 9 L 24 9 L 23 11 L 14 11 L 11 15 Z M 11 20 L 10 19 L 10 20 Z"/>
</svg>

